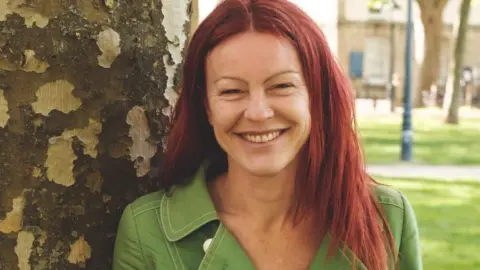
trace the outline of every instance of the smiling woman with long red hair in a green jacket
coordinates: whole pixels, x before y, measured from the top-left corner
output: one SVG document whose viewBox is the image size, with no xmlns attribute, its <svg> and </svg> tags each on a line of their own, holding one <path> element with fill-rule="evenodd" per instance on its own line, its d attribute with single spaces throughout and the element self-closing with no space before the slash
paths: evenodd
<svg viewBox="0 0 480 270">
<path fill-rule="evenodd" d="M 421 269 L 405 196 L 365 172 L 353 91 L 286 0 L 225 0 L 186 52 L 165 189 L 127 207 L 113 269 Z"/>
</svg>

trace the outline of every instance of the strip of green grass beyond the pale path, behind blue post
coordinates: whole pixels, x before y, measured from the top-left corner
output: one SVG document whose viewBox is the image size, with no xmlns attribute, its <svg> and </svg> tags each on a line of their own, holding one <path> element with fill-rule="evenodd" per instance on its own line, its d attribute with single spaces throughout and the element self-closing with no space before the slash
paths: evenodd
<svg viewBox="0 0 480 270">
<path fill-rule="evenodd" d="M 413 158 L 420 164 L 480 165 L 480 118 L 446 125 L 439 117 L 414 114 Z M 359 117 L 367 163 L 400 160 L 401 116 Z"/>
</svg>

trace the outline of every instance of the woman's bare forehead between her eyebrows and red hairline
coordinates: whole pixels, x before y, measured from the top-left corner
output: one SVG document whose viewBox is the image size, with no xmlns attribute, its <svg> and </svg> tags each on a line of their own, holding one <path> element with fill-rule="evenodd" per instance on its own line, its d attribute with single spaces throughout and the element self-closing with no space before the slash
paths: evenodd
<svg viewBox="0 0 480 270">
<path fill-rule="evenodd" d="M 206 65 L 207 76 L 208 73 L 261 75 L 282 69 L 300 71 L 297 51 L 291 42 L 255 31 L 237 34 L 217 45 L 207 56 Z"/>
</svg>

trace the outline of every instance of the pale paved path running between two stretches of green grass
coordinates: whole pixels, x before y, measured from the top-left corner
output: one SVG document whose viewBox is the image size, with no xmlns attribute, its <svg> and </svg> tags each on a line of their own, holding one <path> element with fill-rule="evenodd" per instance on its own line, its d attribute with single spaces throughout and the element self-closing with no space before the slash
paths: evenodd
<svg viewBox="0 0 480 270">
<path fill-rule="evenodd" d="M 480 181 L 480 166 L 368 165 L 367 171 L 372 175 L 384 177 L 469 179 Z"/>
</svg>

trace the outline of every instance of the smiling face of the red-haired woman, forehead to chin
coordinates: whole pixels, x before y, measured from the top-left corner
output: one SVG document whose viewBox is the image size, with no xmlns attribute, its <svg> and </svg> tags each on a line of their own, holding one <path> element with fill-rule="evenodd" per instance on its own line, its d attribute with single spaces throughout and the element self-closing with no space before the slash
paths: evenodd
<svg viewBox="0 0 480 270">
<path fill-rule="evenodd" d="M 229 166 L 273 176 L 294 164 L 310 134 L 308 90 L 295 48 L 249 31 L 206 59 L 208 117 Z"/>
</svg>

